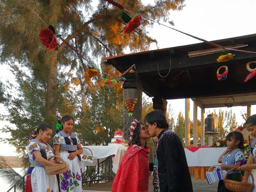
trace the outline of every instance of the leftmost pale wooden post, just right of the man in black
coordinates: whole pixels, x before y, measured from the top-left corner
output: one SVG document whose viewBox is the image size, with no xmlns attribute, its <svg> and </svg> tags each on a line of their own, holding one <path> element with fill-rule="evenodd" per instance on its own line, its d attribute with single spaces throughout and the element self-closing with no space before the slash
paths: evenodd
<svg viewBox="0 0 256 192">
<path fill-rule="evenodd" d="M 190 98 L 185 99 L 185 146 L 190 146 Z"/>
</svg>

